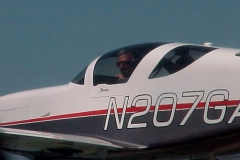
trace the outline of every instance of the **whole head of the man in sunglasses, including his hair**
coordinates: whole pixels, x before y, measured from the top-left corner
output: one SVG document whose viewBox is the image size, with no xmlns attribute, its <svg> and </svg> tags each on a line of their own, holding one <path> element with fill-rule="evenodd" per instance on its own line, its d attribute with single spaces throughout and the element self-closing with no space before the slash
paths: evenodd
<svg viewBox="0 0 240 160">
<path fill-rule="evenodd" d="M 134 56 L 132 51 L 121 50 L 118 53 L 117 67 L 120 69 L 124 77 L 130 77 L 133 72 Z"/>
</svg>

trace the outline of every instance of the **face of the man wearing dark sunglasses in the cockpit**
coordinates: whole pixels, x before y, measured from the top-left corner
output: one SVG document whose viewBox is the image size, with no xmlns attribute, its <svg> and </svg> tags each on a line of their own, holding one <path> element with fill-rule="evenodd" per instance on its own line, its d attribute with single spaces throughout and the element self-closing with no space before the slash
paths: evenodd
<svg viewBox="0 0 240 160">
<path fill-rule="evenodd" d="M 132 71 L 131 67 L 132 56 L 128 54 L 122 54 L 118 57 L 117 66 L 121 73 L 128 73 Z"/>
</svg>

